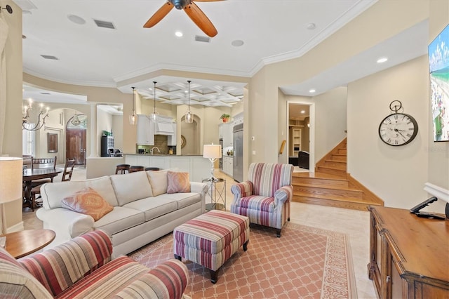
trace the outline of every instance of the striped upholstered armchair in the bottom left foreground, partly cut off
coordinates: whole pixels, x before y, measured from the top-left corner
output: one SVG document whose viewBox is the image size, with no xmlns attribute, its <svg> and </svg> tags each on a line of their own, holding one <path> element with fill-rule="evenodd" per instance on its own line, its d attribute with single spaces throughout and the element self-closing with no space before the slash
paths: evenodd
<svg viewBox="0 0 449 299">
<path fill-rule="evenodd" d="M 0 298 L 182 298 L 188 276 L 179 260 L 149 270 L 111 253 L 102 230 L 19 260 L 0 247 Z"/>
</svg>

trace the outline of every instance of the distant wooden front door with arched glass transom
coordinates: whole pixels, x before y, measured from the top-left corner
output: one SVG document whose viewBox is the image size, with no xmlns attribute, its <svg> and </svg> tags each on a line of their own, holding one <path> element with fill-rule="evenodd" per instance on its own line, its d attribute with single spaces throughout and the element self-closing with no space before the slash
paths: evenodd
<svg viewBox="0 0 449 299">
<path fill-rule="evenodd" d="M 74 117 L 67 121 L 65 140 L 66 140 L 66 159 L 75 159 L 75 165 L 86 166 L 86 131 L 87 117 L 83 114 L 77 115 L 80 123 L 72 121 Z"/>
</svg>

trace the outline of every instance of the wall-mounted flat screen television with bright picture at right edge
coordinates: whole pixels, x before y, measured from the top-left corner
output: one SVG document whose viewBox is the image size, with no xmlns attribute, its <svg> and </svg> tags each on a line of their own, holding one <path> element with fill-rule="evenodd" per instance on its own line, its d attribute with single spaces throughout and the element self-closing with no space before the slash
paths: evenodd
<svg viewBox="0 0 449 299">
<path fill-rule="evenodd" d="M 434 141 L 449 141 L 449 25 L 429 44 Z"/>
</svg>

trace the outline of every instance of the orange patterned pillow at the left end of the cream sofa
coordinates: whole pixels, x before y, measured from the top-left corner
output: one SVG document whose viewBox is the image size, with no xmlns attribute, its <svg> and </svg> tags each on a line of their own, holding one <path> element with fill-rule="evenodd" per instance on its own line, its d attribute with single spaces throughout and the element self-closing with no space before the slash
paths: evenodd
<svg viewBox="0 0 449 299">
<path fill-rule="evenodd" d="M 114 210 L 114 206 L 111 206 L 91 187 L 86 187 L 71 197 L 65 197 L 65 199 L 62 199 L 61 206 L 78 213 L 90 215 L 95 221 Z"/>
</svg>

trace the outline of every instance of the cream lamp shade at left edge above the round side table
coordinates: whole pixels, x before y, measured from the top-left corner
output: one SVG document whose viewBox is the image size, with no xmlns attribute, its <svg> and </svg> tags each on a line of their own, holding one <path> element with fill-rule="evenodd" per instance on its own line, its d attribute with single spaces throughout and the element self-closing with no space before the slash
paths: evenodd
<svg viewBox="0 0 449 299">
<path fill-rule="evenodd" d="M 0 204 L 22 198 L 22 158 L 0 157 Z"/>
</svg>

